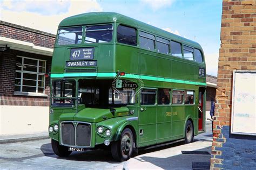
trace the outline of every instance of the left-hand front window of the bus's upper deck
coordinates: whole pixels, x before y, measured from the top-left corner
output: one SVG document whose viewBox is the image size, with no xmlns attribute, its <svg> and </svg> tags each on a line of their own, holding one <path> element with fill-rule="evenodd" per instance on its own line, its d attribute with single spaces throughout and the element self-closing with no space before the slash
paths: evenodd
<svg viewBox="0 0 256 170">
<path fill-rule="evenodd" d="M 83 27 L 70 27 L 59 29 L 58 45 L 80 44 L 82 42 Z"/>
</svg>

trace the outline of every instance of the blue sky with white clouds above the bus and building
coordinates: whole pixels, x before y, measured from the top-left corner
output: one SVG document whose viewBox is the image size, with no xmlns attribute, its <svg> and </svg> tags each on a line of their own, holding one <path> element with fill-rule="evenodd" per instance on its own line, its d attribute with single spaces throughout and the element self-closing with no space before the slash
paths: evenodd
<svg viewBox="0 0 256 170">
<path fill-rule="evenodd" d="M 198 42 L 207 74 L 217 76 L 222 0 L 0 0 L 0 20 L 56 34 L 60 21 L 117 12 Z"/>
</svg>

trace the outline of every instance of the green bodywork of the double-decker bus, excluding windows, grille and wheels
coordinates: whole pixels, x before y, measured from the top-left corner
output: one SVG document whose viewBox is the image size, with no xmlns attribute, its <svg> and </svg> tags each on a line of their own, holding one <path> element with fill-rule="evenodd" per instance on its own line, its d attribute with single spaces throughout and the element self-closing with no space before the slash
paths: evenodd
<svg viewBox="0 0 256 170">
<path fill-rule="evenodd" d="M 112 40 L 104 43 L 84 43 L 85 26 L 102 24 L 113 24 Z M 117 41 L 116 30 L 118 25 L 136 29 L 137 46 L 126 45 Z M 201 115 L 203 116 L 201 117 L 203 128 L 200 131 L 198 130 L 198 106 L 199 91 L 203 91 L 204 101 L 206 98 L 206 73 L 204 73 L 204 76 L 199 75 L 199 69 L 206 70 L 206 66 L 203 49 L 197 42 L 111 12 L 92 12 L 72 16 L 62 20 L 59 29 L 76 26 L 83 26 L 82 42 L 80 44 L 58 45 L 57 37 L 51 68 L 51 82 L 60 80 L 74 80 L 76 82 L 75 94 L 71 99 L 75 102 L 71 107 L 54 106 L 52 105 L 54 98 L 51 98 L 50 110 L 52 114 L 50 114 L 49 127 L 56 124 L 60 125 L 60 122 L 63 121 L 90 123 L 90 148 L 104 144 L 106 139 L 109 139 L 110 143 L 120 140 L 121 134 L 126 128 L 132 131 L 136 148 L 184 138 L 186 135 L 185 126 L 188 120 L 193 124 L 194 135 L 204 132 L 205 114 Z M 181 44 L 181 47 L 186 45 L 199 49 L 203 56 L 203 62 L 186 60 L 184 55 L 179 58 L 172 56 L 170 53 L 159 53 L 156 49 L 154 51 L 142 49 L 139 44 L 139 31 L 177 41 Z M 97 61 L 97 66 L 66 67 L 66 62 L 70 61 L 72 48 L 87 47 L 94 49 L 93 60 Z M 113 81 L 116 79 L 117 73 L 125 73 L 125 75 L 119 76 L 120 79 L 130 80 L 140 85 L 140 82 L 143 82 L 143 87 L 138 88 L 156 89 L 156 93 L 158 88 L 170 89 L 170 96 L 172 96 L 173 90 L 194 91 L 194 104 L 185 105 L 183 101 L 183 104 L 142 105 L 140 104 L 142 100 L 140 94 L 136 94 L 134 104 L 115 106 L 111 109 L 90 108 L 86 107 L 85 104 L 78 103 L 79 80 L 85 80 L 85 82 L 86 80 L 92 82 L 93 80 Z M 51 97 L 55 97 L 52 93 L 51 90 Z M 201 103 L 204 104 L 205 102 L 202 101 Z M 134 111 L 133 114 L 131 114 L 131 110 Z M 205 107 L 203 107 L 203 113 L 205 113 Z M 105 133 L 98 133 L 97 128 L 99 126 L 102 126 L 104 131 L 106 129 L 111 130 L 111 136 L 106 137 Z M 60 143 L 59 130 L 49 132 L 49 136 L 59 141 L 60 145 L 62 144 Z"/>
</svg>

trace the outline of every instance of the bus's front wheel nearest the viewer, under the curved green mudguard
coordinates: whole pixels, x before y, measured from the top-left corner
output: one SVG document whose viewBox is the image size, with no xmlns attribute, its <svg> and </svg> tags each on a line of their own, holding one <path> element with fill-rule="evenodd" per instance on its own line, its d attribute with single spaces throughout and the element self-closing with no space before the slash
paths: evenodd
<svg viewBox="0 0 256 170">
<path fill-rule="evenodd" d="M 114 160 L 125 161 L 130 159 L 133 152 L 133 134 L 128 128 L 124 129 L 118 141 L 111 143 L 111 153 Z"/>
</svg>

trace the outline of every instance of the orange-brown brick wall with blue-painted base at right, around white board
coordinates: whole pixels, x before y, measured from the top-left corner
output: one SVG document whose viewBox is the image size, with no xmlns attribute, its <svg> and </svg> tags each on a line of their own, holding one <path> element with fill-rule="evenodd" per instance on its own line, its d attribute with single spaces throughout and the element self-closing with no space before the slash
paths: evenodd
<svg viewBox="0 0 256 170">
<path fill-rule="evenodd" d="M 230 134 L 233 70 L 256 70 L 256 0 L 224 0 L 212 169 L 256 167 L 256 137 Z"/>
</svg>

